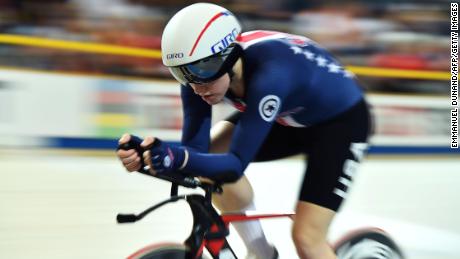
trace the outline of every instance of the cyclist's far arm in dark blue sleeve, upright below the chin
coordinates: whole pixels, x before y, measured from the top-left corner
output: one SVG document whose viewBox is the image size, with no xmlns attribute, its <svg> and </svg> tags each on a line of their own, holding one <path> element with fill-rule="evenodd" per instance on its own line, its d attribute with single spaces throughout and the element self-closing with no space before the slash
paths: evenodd
<svg viewBox="0 0 460 259">
<path fill-rule="evenodd" d="M 182 145 L 199 152 L 209 150 L 211 129 L 211 106 L 193 92 L 190 86 L 181 85 L 184 123 L 182 126 Z"/>
</svg>

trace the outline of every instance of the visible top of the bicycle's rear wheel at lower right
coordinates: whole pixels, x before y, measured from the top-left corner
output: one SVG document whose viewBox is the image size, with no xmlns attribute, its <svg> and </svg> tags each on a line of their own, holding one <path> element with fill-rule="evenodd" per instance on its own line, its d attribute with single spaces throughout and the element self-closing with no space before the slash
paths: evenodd
<svg viewBox="0 0 460 259">
<path fill-rule="evenodd" d="M 343 259 L 404 259 L 396 242 L 376 228 L 354 231 L 334 245 L 337 258 Z"/>
</svg>

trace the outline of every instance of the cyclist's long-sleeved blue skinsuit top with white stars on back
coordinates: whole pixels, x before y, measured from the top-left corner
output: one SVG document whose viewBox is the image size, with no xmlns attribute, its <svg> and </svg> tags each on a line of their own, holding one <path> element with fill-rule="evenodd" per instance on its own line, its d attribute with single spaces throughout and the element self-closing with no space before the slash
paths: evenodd
<svg viewBox="0 0 460 259">
<path fill-rule="evenodd" d="M 363 98 L 353 74 L 310 39 L 271 31 L 242 34 L 245 97 L 227 100 L 244 111 L 230 149 L 208 153 L 211 106 L 181 86 L 182 145 L 189 151 L 186 173 L 236 180 L 253 160 L 273 123 L 308 127 L 329 120 Z"/>
</svg>

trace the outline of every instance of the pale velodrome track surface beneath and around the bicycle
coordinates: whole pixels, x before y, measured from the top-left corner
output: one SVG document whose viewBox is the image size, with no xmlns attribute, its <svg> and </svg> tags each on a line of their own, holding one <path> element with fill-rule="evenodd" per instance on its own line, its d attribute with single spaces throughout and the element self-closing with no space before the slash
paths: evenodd
<svg viewBox="0 0 460 259">
<path fill-rule="evenodd" d="M 167 198 L 169 185 L 126 173 L 114 156 L 3 150 L 0 167 L 0 258 L 125 258 L 153 242 L 180 242 L 190 230 L 185 203 L 117 225 L 118 212 L 140 212 Z M 292 210 L 302 168 L 299 159 L 251 165 L 258 208 Z M 331 240 L 373 225 L 397 239 L 409 258 L 460 258 L 459 172 L 458 157 L 371 157 L 333 223 Z M 281 258 L 296 258 L 290 220 L 263 225 Z M 235 236 L 231 241 L 244 254 Z"/>
</svg>

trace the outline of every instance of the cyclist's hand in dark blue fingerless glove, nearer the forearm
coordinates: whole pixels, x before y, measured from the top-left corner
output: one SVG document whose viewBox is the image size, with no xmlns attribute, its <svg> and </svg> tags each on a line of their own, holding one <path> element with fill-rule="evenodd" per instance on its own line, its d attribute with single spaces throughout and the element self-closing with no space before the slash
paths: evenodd
<svg viewBox="0 0 460 259">
<path fill-rule="evenodd" d="M 144 163 L 153 175 L 177 171 L 184 163 L 186 151 L 170 146 L 159 138 L 147 137 L 141 147 L 146 150 L 143 154 Z"/>
</svg>

